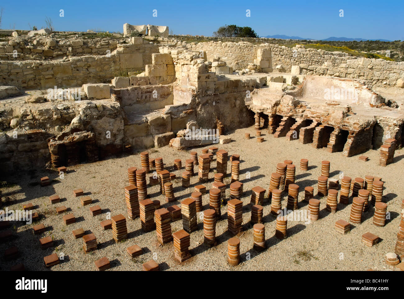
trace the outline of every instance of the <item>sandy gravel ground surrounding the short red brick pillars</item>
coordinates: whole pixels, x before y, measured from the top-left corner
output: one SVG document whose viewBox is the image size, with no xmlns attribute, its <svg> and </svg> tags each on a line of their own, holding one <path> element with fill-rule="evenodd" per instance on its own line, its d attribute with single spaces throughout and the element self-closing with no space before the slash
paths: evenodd
<svg viewBox="0 0 404 299">
<path fill-rule="evenodd" d="M 11 186 L 2 188 L 3 200 L 8 196 L 11 201 L 9 209 L 21 209 L 24 203 L 31 202 L 36 207 L 35 211 L 43 216 L 41 220 L 33 224 L 15 222 L 11 227 L 15 237 L 12 241 L 0 244 L 1 269 L 8 270 L 11 266 L 24 263 L 28 270 L 46 270 L 43 257 L 52 253 L 64 254 L 64 260 L 51 271 L 60 270 L 96 270 L 94 261 L 106 256 L 111 261 L 111 270 L 141 270 L 142 263 L 155 258 L 161 270 L 397 270 L 394 266 L 385 264 L 384 256 L 387 252 L 393 252 L 396 243 L 396 235 L 400 222 L 401 194 L 404 191 L 404 178 L 401 175 L 404 161 L 404 150 L 397 150 L 394 163 L 387 167 L 379 166 L 379 152 L 369 150 L 366 156 L 369 161 L 361 162 L 358 156 L 346 158 L 342 153 L 330 154 L 323 149 L 314 149 L 311 144 L 300 144 L 297 140 L 286 141 L 285 138 L 275 139 L 265 134 L 265 142 L 257 143 L 254 137 L 244 139 L 244 133 L 255 135 L 254 127 L 236 130 L 229 135 L 232 142 L 218 145 L 219 149 L 227 150 L 230 154 L 240 154 L 240 181 L 244 183 L 243 201 L 243 231 L 240 237 L 241 263 L 236 267 L 227 264 L 227 240 L 231 235 L 227 232 L 227 206 L 222 207 L 222 218 L 217 222 L 216 236 L 218 245 L 207 248 L 203 244 L 203 223 L 198 217 L 198 231 L 191 233 L 190 252 L 192 257 L 179 264 L 174 259 L 173 242 L 160 246 L 157 241 L 156 231 L 144 233 L 141 230 L 140 219 L 127 218 L 128 239 L 121 243 L 115 243 L 112 239 L 112 230 L 103 231 L 100 222 L 105 220 L 107 212 L 111 216 L 123 214 L 126 216 L 126 204 L 124 199 L 124 187 L 128 185 L 127 168 L 140 168 L 140 155 L 122 156 L 111 158 L 92 164 L 79 164 L 68 167 L 68 173 L 64 179 L 59 179 L 56 171 L 38 169 L 36 172 L 20 172 L 8 177 Z M 189 149 L 191 151 L 193 149 Z M 198 154 L 202 153 L 202 147 L 194 149 Z M 150 158 L 163 157 L 165 168 L 173 172 L 175 158 L 181 158 L 183 169 L 175 171 L 181 177 L 184 171 L 185 159 L 190 157 L 189 151 L 178 151 L 172 147 L 163 147 L 149 150 Z M 309 159 L 309 170 L 303 172 L 299 169 L 301 158 Z M 317 194 L 317 178 L 320 175 L 321 161 L 331 162 L 330 177 L 338 178 L 340 172 L 352 178 L 365 175 L 382 177 L 385 182 L 383 201 L 387 203 L 387 211 L 391 219 L 387 220 L 384 227 L 372 224 L 374 208 L 364 213 L 364 220 L 360 225 L 351 225 L 351 232 L 341 235 L 334 230 L 337 220 L 349 221 L 350 206 L 338 204 L 338 211 L 330 214 L 326 211 L 326 198 L 321 199 L 320 219 L 310 224 L 304 221 L 288 221 L 288 237 L 278 240 L 275 234 L 276 218 L 270 211 L 270 203 L 264 204 L 265 240 L 267 250 L 257 252 L 252 249 L 252 226 L 250 225 L 250 196 L 251 188 L 261 186 L 266 190 L 269 187 L 270 174 L 276 171 L 276 164 L 284 160 L 292 160 L 296 167 L 296 183 L 299 185 L 299 209 L 307 209 L 304 198 L 304 187 L 313 186 Z M 212 186 L 213 169 L 216 167 L 216 156 L 211 164 L 209 182 L 205 184 L 207 190 Z M 197 167 L 194 169 L 197 171 Z M 230 172 L 228 163 L 227 172 Z M 41 187 L 39 178 L 48 175 L 54 179 L 50 186 Z M 250 178 L 247 178 L 250 177 Z M 148 182 L 148 179 L 147 179 Z M 229 197 L 229 175 L 225 179 L 227 183 L 226 195 Z M 13 185 L 15 184 L 15 185 Z M 177 201 L 166 203 L 159 192 L 159 186 L 149 186 L 148 194 L 152 200 L 159 199 L 162 207 L 177 204 L 190 196 L 194 186 L 198 185 L 198 177 L 191 178 L 191 187 L 183 188 L 181 180 L 174 182 L 174 191 Z M 82 207 L 80 198 L 73 196 L 73 190 L 82 188 L 85 195 L 93 199 L 91 205 Z M 58 194 L 62 201 L 51 205 L 48 196 Z M 318 198 L 316 196 L 316 198 Z M 286 206 L 287 194 L 282 194 L 282 207 Z M 350 202 L 352 198 L 350 198 Z M 208 192 L 203 196 L 204 209 L 208 208 Z M 62 215 L 55 213 L 55 208 L 65 205 L 67 213 L 73 213 L 77 222 L 66 226 Z M 99 205 L 103 214 L 92 217 L 90 206 Z M 32 226 L 43 223 L 47 230 L 42 235 L 34 235 Z M 93 232 L 97 237 L 98 249 L 85 254 L 83 252 L 82 239 L 74 239 L 72 231 L 83 228 L 87 233 Z M 182 221 L 171 224 L 172 231 L 182 229 Z M 361 236 L 370 232 L 378 235 L 382 240 L 373 247 L 367 247 L 362 243 Z M 55 248 L 41 250 L 40 237 L 52 236 Z M 136 259 L 131 259 L 126 254 L 126 248 L 137 244 L 143 248 L 143 254 Z M 11 246 L 18 246 L 21 256 L 13 261 L 4 261 L 4 250 Z"/>
</svg>

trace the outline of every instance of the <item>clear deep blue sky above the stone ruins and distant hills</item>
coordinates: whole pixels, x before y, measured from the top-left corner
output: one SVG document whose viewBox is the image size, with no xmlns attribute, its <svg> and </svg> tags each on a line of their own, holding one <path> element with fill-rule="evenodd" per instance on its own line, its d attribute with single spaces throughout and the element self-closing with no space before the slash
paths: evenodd
<svg viewBox="0 0 404 299">
<path fill-rule="evenodd" d="M 404 40 L 404 1 L 2 1 L 2 29 L 45 27 L 55 30 L 122 32 L 122 25 L 169 26 L 174 34 L 212 36 L 220 26 L 250 26 L 259 36 L 285 34 L 323 39 L 330 36 Z M 64 17 L 59 10 L 64 9 Z M 157 17 L 153 10 L 157 9 Z M 250 9 L 250 17 L 246 10 Z M 339 10 L 344 17 L 339 17 Z"/>
</svg>

